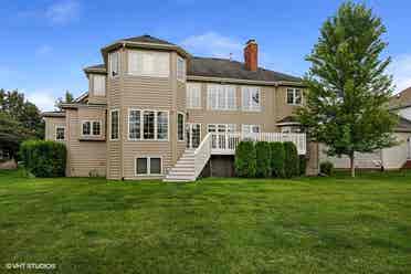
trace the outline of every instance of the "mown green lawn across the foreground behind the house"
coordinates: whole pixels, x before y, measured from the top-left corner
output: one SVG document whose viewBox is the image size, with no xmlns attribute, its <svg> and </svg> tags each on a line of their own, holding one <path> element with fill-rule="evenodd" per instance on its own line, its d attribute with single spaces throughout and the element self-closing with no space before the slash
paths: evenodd
<svg viewBox="0 0 411 274">
<path fill-rule="evenodd" d="M 166 185 L 1 171 L 0 273 L 21 262 L 59 273 L 411 273 L 411 173 Z"/>
</svg>

